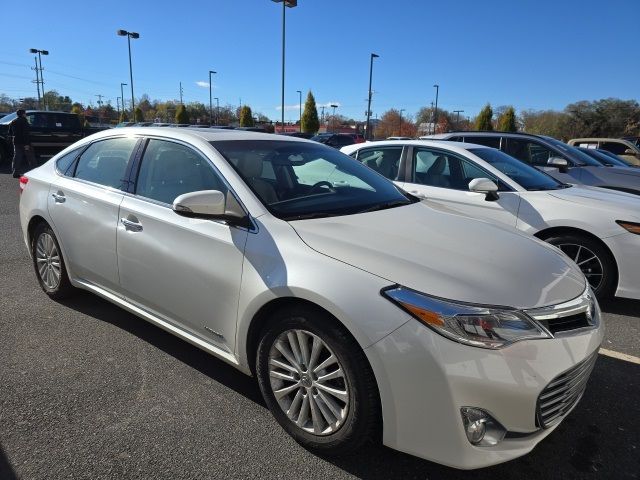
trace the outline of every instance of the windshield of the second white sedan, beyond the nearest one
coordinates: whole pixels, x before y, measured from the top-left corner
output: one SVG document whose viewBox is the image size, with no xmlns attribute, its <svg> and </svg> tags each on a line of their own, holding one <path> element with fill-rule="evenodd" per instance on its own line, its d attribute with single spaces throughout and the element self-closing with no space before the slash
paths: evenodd
<svg viewBox="0 0 640 480">
<path fill-rule="evenodd" d="M 527 190 L 558 190 L 568 186 L 495 148 L 470 148 L 469 152 L 500 170 Z"/>
</svg>

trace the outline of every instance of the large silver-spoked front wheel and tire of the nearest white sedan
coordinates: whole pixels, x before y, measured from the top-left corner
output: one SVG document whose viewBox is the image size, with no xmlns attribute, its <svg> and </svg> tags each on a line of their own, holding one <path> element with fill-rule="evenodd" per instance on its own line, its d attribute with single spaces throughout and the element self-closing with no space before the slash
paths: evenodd
<svg viewBox="0 0 640 480">
<path fill-rule="evenodd" d="M 278 342 L 282 350 L 276 348 Z M 307 353 L 299 354 L 301 362 L 296 361 L 299 357 L 292 342 L 298 345 L 298 352 L 303 352 L 301 346 L 306 343 Z M 322 347 L 314 361 L 316 342 Z M 282 364 L 288 366 L 282 368 Z M 304 306 L 276 312 L 262 331 L 256 373 L 269 410 L 303 447 L 319 454 L 344 455 L 378 440 L 380 400 L 369 362 L 356 341 L 327 314 Z M 331 376 L 334 378 L 323 380 Z M 283 389 L 291 393 L 279 401 L 274 392 Z"/>
</svg>

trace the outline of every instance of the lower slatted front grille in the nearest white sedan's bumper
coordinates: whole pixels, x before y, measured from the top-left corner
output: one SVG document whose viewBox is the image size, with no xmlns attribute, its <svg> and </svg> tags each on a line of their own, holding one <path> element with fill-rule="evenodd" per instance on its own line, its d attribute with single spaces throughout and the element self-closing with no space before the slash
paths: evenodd
<svg viewBox="0 0 640 480">
<path fill-rule="evenodd" d="M 560 421 L 580 401 L 598 358 L 596 350 L 582 362 L 554 378 L 538 396 L 536 423 L 547 428 Z"/>
</svg>

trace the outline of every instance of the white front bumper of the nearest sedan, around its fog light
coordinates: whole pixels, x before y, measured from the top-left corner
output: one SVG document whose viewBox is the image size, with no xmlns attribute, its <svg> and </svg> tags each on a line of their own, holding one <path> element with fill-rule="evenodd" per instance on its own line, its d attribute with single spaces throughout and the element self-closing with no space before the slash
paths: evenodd
<svg viewBox="0 0 640 480">
<path fill-rule="evenodd" d="M 512 460 L 530 452 L 559 424 L 536 425 L 536 402 L 559 374 L 594 353 L 604 335 L 516 342 L 501 350 L 465 346 L 411 319 L 365 350 L 378 381 L 385 445 L 461 469 Z M 507 430 L 493 447 L 467 440 L 460 408 L 489 412 Z"/>
</svg>

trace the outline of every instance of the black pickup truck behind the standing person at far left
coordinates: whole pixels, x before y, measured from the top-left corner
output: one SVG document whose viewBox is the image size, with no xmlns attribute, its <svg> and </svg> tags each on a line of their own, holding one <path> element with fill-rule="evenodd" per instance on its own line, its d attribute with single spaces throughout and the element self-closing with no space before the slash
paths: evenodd
<svg viewBox="0 0 640 480">
<path fill-rule="evenodd" d="M 27 110 L 31 145 L 38 158 L 50 158 L 65 147 L 80 140 L 86 132 L 80 118 L 74 113 Z M 13 156 L 13 143 L 9 136 L 9 125 L 17 117 L 10 113 L 0 118 L 0 164 Z"/>
</svg>

